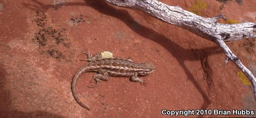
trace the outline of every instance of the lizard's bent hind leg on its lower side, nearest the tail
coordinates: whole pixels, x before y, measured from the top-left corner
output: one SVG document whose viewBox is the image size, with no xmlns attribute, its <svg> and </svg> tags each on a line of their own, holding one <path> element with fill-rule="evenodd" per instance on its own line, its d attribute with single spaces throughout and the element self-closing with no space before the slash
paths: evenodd
<svg viewBox="0 0 256 118">
<path fill-rule="evenodd" d="M 93 80 L 96 81 L 96 84 L 88 86 L 89 88 L 99 86 L 101 80 L 108 81 L 109 80 L 109 74 L 105 70 L 99 69 L 99 74 L 94 75 L 90 82 L 92 82 Z"/>
</svg>

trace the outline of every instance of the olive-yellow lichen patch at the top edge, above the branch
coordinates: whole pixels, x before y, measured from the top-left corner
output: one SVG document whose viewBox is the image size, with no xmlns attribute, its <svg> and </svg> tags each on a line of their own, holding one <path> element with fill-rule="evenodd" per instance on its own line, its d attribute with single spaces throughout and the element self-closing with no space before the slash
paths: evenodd
<svg viewBox="0 0 256 118">
<path fill-rule="evenodd" d="M 188 11 L 197 14 L 197 15 L 201 15 L 201 11 L 207 7 L 207 4 L 204 1 L 201 0 L 196 0 L 194 2 L 194 4 L 192 4 L 192 7 L 190 7 L 188 9 Z"/>
</svg>

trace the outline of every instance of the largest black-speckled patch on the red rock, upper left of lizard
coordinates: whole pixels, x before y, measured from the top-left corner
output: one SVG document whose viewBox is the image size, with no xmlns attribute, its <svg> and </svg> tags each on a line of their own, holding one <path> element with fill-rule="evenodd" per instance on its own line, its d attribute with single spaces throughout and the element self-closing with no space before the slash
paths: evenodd
<svg viewBox="0 0 256 118">
<path fill-rule="evenodd" d="M 65 57 L 60 50 L 68 49 L 71 46 L 70 39 L 66 35 L 66 29 L 56 29 L 47 24 L 44 12 L 35 11 L 32 23 L 38 26 L 38 32 L 34 34 L 33 42 L 37 43 L 41 54 L 47 57 L 62 59 Z"/>
</svg>

